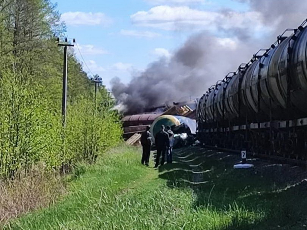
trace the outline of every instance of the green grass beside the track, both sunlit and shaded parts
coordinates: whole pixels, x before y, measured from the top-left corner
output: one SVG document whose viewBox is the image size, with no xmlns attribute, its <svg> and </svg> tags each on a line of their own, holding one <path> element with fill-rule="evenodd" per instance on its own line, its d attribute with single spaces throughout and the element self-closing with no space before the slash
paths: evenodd
<svg viewBox="0 0 307 230">
<path fill-rule="evenodd" d="M 278 171 L 235 171 L 219 155 L 183 149 L 154 170 L 140 164 L 140 149 L 116 148 L 79 165 L 56 205 L 5 229 L 306 229 L 304 185 L 286 190 Z"/>
</svg>

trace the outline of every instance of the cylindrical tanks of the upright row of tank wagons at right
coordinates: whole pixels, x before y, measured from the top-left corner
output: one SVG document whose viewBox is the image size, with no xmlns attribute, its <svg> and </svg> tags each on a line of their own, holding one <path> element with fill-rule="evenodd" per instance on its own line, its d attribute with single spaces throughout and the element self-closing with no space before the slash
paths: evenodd
<svg viewBox="0 0 307 230">
<path fill-rule="evenodd" d="M 306 21 L 278 37 L 247 64 L 211 87 L 197 106 L 198 123 L 245 124 L 307 115 Z M 291 109 L 289 109 L 291 108 Z M 242 119 L 244 117 L 244 119 Z"/>
</svg>

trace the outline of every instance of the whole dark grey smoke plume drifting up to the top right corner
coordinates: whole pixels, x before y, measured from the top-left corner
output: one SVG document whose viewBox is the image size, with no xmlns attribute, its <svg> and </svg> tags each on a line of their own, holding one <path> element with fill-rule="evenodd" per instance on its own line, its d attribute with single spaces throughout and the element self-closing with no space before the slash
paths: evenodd
<svg viewBox="0 0 307 230">
<path fill-rule="evenodd" d="M 128 114 L 141 113 L 168 100 L 201 96 L 240 63 L 248 62 L 258 49 L 268 48 L 280 33 L 288 27 L 297 27 L 307 16 L 307 1 L 237 1 L 247 2 L 251 11 L 262 14 L 264 26 L 271 26 L 266 36 L 255 38 L 242 28 L 223 31 L 231 39 L 210 36 L 208 31 L 193 35 L 170 59 L 161 58 L 149 64 L 128 85 L 119 78 L 112 79 L 117 109 Z"/>
</svg>

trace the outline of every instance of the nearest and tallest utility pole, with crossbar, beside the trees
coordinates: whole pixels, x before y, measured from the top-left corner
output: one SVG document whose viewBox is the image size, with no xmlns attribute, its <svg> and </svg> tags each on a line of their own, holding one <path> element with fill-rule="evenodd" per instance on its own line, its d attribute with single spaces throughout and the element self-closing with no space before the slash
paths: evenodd
<svg viewBox="0 0 307 230">
<path fill-rule="evenodd" d="M 73 39 L 73 44 L 67 43 L 67 38 L 65 38 L 65 43 L 60 43 L 60 38 L 57 38 L 58 46 L 64 46 L 64 64 L 63 64 L 63 89 L 62 89 L 62 125 L 66 124 L 66 107 L 67 107 L 67 47 L 74 46 L 76 40 Z"/>
</svg>

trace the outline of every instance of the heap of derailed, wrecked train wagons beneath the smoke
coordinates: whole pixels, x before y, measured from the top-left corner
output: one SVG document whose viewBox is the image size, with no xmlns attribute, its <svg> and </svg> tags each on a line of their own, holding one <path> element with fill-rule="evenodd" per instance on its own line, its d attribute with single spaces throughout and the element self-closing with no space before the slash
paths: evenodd
<svg viewBox="0 0 307 230">
<path fill-rule="evenodd" d="M 195 110 L 198 100 L 173 103 L 155 108 L 159 112 L 127 115 L 122 118 L 124 138 L 128 144 L 139 144 L 141 133 L 150 125 L 151 136 L 159 132 L 161 125 L 169 125 L 174 132 L 174 148 L 192 145 L 196 141 Z M 161 112 L 162 110 L 162 112 Z M 163 111 L 164 110 L 164 111 Z"/>
</svg>

